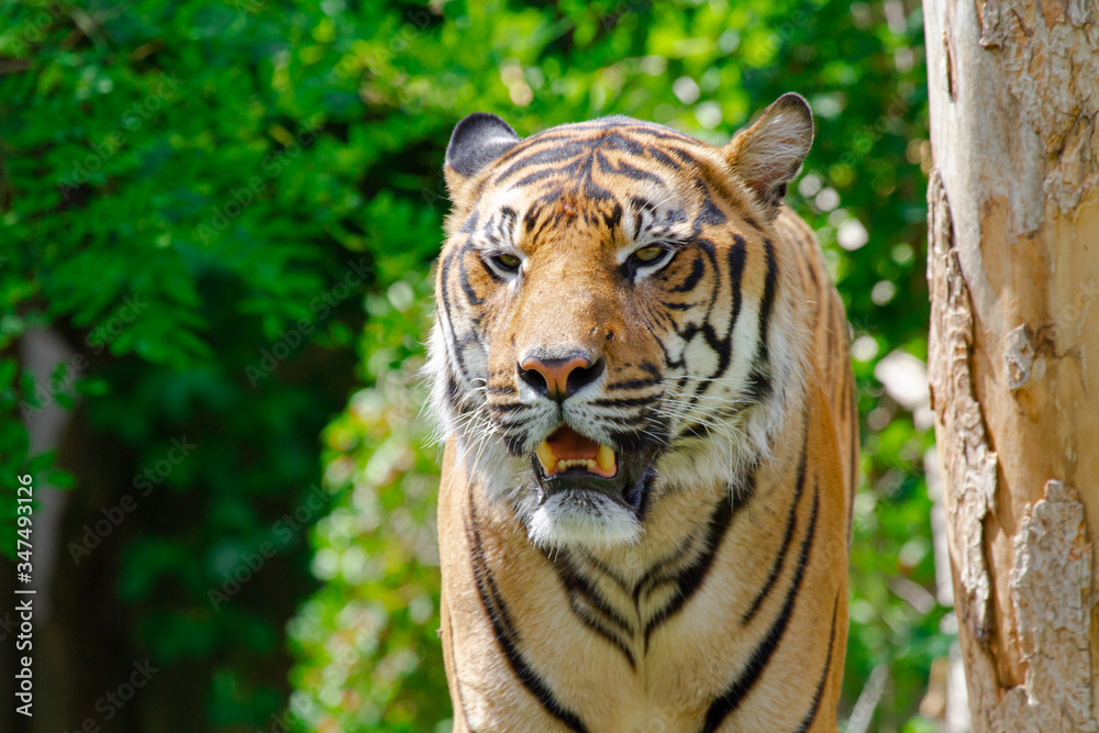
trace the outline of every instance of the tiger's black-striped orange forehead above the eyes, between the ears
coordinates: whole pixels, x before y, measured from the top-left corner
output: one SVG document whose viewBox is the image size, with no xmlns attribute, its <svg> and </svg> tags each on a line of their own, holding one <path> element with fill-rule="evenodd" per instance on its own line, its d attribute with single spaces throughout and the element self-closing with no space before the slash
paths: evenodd
<svg viewBox="0 0 1099 733">
<path fill-rule="evenodd" d="M 486 170 L 475 207 L 482 221 L 508 219 L 512 246 L 579 224 L 636 240 L 654 224 L 674 229 L 691 220 L 697 227 L 723 224 L 730 213 L 743 218 L 752 207 L 731 176 L 724 156 L 701 141 L 610 118 L 522 141 Z M 490 244 L 503 237 L 497 238 Z"/>
</svg>

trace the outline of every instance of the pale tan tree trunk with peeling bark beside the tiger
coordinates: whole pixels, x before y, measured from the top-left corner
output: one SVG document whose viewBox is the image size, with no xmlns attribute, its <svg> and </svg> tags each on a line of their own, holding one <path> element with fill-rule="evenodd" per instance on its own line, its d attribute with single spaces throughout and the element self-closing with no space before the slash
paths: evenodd
<svg viewBox="0 0 1099 733">
<path fill-rule="evenodd" d="M 974 731 L 1099 731 L 1099 9 L 924 0 L 929 344 Z"/>
</svg>

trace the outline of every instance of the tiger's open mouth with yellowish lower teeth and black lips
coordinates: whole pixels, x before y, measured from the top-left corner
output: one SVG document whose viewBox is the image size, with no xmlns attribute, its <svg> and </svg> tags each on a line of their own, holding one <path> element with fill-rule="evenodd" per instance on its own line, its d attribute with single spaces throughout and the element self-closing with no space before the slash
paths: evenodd
<svg viewBox="0 0 1099 733">
<path fill-rule="evenodd" d="M 559 493 L 593 491 L 641 512 L 655 476 L 654 458 L 653 451 L 615 452 L 562 425 L 531 456 L 537 506 Z"/>
</svg>

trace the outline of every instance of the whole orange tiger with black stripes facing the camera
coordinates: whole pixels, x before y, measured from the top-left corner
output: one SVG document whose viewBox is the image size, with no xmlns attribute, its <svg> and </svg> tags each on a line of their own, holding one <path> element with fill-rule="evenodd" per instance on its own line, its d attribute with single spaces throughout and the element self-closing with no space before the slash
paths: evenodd
<svg viewBox="0 0 1099 733">
<path fill-rule="evenodd" d="M 858 423 L 784 203 L 787 93 L 715 146 L 454 127 L 430 404 L 454 731 L 836 731 Z"/>
</svg>

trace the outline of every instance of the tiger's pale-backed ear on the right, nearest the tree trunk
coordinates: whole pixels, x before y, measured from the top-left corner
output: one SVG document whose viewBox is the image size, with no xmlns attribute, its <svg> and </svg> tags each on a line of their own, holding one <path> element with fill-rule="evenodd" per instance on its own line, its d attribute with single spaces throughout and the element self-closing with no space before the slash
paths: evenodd
<svg viewBox="0 0 1099 733">
<path fill-rule="evenodd" d="M 766 204 L 777 207 L 813 144 L 813 113 L 792 91 L 779 97 L 724 147 L 725 159 Z"/>
</svg>

